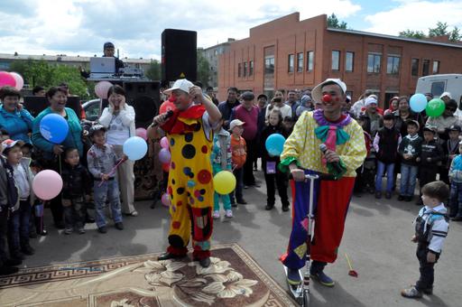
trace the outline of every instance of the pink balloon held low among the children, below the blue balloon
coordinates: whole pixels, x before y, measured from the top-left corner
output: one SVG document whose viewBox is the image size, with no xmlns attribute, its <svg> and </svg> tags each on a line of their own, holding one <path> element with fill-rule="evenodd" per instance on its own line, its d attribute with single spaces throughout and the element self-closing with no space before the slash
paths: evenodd
<svg viewBox="0 0 462 307">
<path fill-rule="evenodd" d="M 62 190 L 62 179 L 58 172 L 39 172 L 32 181 L 32 190 L 41 200 L 54 199 Z"/>
</svg>

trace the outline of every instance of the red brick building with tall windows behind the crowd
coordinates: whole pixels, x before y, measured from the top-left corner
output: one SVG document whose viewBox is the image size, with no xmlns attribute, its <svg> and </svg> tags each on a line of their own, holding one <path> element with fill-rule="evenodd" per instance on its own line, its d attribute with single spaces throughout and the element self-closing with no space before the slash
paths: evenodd
<svg viewBox="0 0 462 307">
<path fill-rule="evenodd" d="M 250 29 L 218 65 L 220 100 L 230 86 L 271 97 L 340 78 L 354 100 L 373 89 L 387 107 L 391 97 L 412 94 L 421 76 L 462 72 L 462 45 L 330 29 L 325 14 L 300 21 L 294 13 Z"/>
</svg>

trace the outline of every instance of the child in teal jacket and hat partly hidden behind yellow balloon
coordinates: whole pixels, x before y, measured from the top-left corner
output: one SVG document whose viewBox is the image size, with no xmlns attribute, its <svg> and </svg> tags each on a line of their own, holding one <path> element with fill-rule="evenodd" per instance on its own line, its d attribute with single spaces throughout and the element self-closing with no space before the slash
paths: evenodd
<svg viewBox="0 0 462 307">
<path fill-rule="evenodd" d="M 214 176 L 217 172 L 232 171 L 231 169 L 231 136 L 223 128 L 224 120 L 220 120 L 220 124 L 215 130 L 213 136 L 213 149 L 210 159 L 212 161 L 212 169 Z M 223 208 L 225 209 L 225 217 L 228 219 L 233 218 L 233 210 L 231 209 L 231 200 L 229 195 L 220 195 L 215 191 L 214 193 L 214 211 L 213 218 L 220 218 L 220 199 L 223 201 Z"/>
</svg>

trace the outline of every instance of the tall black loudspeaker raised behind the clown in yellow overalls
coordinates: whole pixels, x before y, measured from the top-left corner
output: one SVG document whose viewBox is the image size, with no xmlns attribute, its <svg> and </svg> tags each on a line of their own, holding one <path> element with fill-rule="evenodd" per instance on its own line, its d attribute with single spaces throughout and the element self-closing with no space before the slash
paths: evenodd
<svg viewBox="0 0 462 307">
<path fill-rule="evenodd" d="M 198 33 L 176 29 L 162 32 L 162 80 L 198 78 Z"/>
</svg>

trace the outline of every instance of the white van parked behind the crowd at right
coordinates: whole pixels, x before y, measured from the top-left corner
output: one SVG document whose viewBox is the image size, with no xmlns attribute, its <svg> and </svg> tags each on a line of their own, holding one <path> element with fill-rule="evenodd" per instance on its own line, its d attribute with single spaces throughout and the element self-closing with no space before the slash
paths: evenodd
<svg viewBox="0 0 462 307">
<path fill-rule="evenodd" d="M 448 73 L 420 77 L 415 92 L 431 93 L 434 98 L 439 98 L 442 93 L 449 92 L 451 97 L 457 101 L 458 109 L 462 110 L 462 74 Z"/>
</svg>

